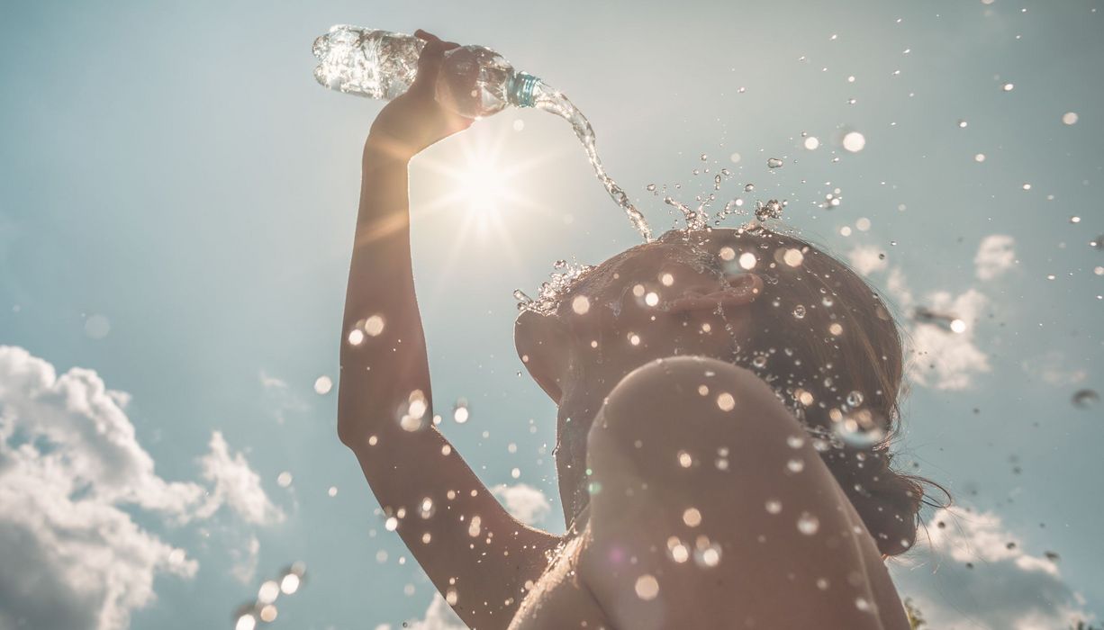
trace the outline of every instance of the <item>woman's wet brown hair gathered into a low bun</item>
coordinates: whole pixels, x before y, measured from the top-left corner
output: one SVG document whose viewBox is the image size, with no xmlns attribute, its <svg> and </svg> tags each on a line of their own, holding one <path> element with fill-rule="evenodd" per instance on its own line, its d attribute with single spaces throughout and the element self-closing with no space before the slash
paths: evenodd
<svg viewBox="0 0 1104 630">
<path fill-rule="evenodd" d="M 900 430 L 904 357 L 881 296 L 824 250 L 762 226 L 697 238 L 672 231 L 659 241 L 683 243 L 691 257 L 729 275 L 743 271 L 741 256 L 755 256 L 752 270 L 764 291 L 751 305 L 754 333 L 718 357 L 755 372 L 795 413 L 882 554 L 911 548 L 921 509 L 944 505 L 949 494 L 893 467 L 889 447 Z M 614 267 L 636 249 L 614 257 Z M 608 275 L 594 276 L 583 284 L 609 282 Z M 925 485 L 945 501 L 933 502 Z"/>
</svg>

